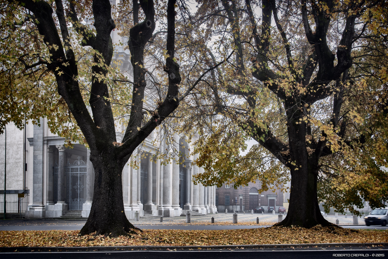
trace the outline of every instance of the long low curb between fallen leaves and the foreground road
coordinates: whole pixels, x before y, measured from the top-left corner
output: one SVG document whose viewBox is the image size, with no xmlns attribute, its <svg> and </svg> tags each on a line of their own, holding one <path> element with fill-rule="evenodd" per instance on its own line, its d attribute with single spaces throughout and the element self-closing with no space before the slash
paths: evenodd
<svg viewBox="0 0 388 259">
<path fill-rule="evenodd" d="M 105 250 L 189 250 L 189 249 L 253 249 L 253 248 L 290 248 L 290 247 L 351 247 L 351 246 L 377 246 L 388 243 L 318 243 L 318 244 L 273 244 L 273 245 L 129 245 L 110 247 L 0 247 L 0 252 L 82 252 Z"/>
</svg>

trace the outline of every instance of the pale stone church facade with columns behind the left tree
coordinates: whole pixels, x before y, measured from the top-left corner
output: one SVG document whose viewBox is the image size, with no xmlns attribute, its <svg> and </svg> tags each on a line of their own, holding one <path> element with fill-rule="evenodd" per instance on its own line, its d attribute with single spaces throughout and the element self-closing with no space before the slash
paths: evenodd
<svg viewBox="0 0 388 259">
<path fill-rule="evenodd" d="M 45 118 L 40 127 L 30 122 L 24 130 L 18 130 L 12 123 L 7 125 L 7 217 L 88 217 L 94 187 L 90 151 L 81 144 L 67 148 L 64 143 L 64 138 L 50 132 Z M 175 143 L 192 148 L 191 143 L 177 134 Z M 174 154 L 170 163 L 162 165 L 161 160 L 150 159 L 157 151 L 161 150 L 152 146 L 151 134 L 134 152 L 137 158 L 130 158 L 137 159 L 140 167 L 132 168 L 128 161 L 123 169 L 127 218 L 133 220 L 136 211 L 140 216 L 164 217 L 181 216 L 188 211 L 217 213 L 215 186 L 192 183 L 193 174 L 203 170 L 193 164 L 196 156 L 185 154 L 187 148 L 181 146 L 182 157 Z M 176 163 L 183 160 L 183 163 Z M 0 161 L 4 169 L 5 134 L 0 135 Z M 3 173 L 0 186 L 4 186 Z M 0 190 L 1 201 L 3 193 L 4 190 Z M 0 212 L 3 212 L 3 203 L 0 205 Z"/>
</svg>

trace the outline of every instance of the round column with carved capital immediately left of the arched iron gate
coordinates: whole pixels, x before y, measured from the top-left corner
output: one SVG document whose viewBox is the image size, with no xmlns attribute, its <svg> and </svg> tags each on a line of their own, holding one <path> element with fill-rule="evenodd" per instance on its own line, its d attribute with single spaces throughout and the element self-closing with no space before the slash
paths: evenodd
<svg viewBox="0 0 388 259">
<path fill-rule="evenodd" d="M 65 203 L 65 163 L 66 163 L 66 147 L 64 145 L 56 146 L 58 149 L 58 202 L 55 203 L 55 217 L 61 217 L 68 210 L 68 204 Z"/>
</svg>

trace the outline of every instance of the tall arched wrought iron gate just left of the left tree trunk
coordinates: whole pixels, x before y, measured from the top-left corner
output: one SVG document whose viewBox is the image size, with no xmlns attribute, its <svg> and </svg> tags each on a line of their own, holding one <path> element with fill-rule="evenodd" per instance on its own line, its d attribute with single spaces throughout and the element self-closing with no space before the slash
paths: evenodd
<svg viewBox="0 0 388 259">
<path fill-rule="evenodd" d="M 66 200 L 69 210 L 82 210 L 86 199 L 86 163 L 75 160 L 73 164 L 66 164 Z"/>
</svg>

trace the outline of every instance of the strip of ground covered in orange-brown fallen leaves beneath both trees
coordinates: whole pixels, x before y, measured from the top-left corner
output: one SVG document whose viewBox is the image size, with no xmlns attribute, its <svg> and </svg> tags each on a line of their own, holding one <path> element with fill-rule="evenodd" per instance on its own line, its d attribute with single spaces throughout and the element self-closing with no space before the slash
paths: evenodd
<svg viewBox="0 0 388 259">
<path fill-rule="evenodd" d="M 79 231 L 0 231 L 0 247 L 73 247 L 122 245 L 248 245 L 388 242 L 388 230 L 343 228 L 256 228 L 233 230 L 145 229 L 132 238 L 78 236 Z"/>
</svg>

